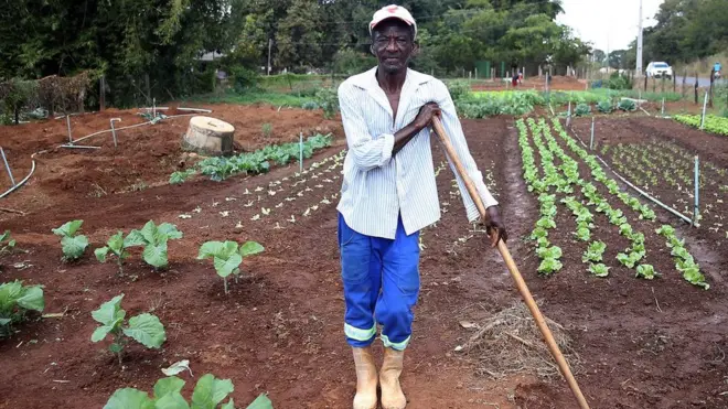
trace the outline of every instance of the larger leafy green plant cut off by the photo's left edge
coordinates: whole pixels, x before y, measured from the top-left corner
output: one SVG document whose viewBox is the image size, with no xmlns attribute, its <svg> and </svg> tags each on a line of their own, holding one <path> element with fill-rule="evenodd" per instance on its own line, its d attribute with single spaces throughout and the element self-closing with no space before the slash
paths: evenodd
<svg viewBox="0 0 728 409">
<path fill-rule="evenodd" d="M 11 325 L 22 322 L 28 311 L 43 312 L 42 286 L 23 286 L 15 280 L 0 284 L 0 338 L 12 333 Z"/>
</svg>

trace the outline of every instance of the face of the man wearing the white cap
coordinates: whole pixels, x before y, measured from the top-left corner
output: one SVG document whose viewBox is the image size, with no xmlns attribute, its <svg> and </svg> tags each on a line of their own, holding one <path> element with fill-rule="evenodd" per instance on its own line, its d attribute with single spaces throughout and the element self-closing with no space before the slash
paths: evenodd
<svg viewBox="0 0 728 409">
<path fill-rule="evenodd" d="M 379 61 L 379 68 L 389 74 L 407 69 L 409 57 L 417 49 L 411 29 L 396 19 L 381 22 L 372 41 L 372 52 Z"/>
</svg>

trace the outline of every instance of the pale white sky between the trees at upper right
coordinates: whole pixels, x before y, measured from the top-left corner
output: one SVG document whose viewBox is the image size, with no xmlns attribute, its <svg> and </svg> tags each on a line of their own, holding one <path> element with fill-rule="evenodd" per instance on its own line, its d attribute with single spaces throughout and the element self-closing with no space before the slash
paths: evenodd
<svg viewBox="0 0 728 409">
<path fill-rule="evenodd" d="M 654 15 L 664 0 L 642 0 L 644 26 L 654 25 Z M 556 21 L 574 29 L 596 49 L 627 49 L 636 39 L 640 0 L 563 0 L 565 13 Z"/>
</svg>

